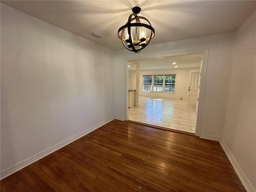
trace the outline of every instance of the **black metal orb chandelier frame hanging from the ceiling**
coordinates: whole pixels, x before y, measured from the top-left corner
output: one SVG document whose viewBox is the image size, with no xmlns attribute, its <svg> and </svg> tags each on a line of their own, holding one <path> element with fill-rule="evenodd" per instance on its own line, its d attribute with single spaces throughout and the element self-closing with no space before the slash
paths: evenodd
<svg viewBox="0 0 256 192">
<path fill-rule="evenodd" d="M 126 49 L 128 49 L 129 51 L 133 51 L 133 52 L 136 52 L 136 53 L 138 53 L 142 49 L 144 49 L 148 45 L 150 40 L 154 37 L 154 34 L 155 34 L 155 30 L 151 26 L 149 20 L 144 18 L 144 17 L 141 17 L 141 16 L 137 15 L 138 13 L 140 13 L 140 10 L 141 10 L 140 7 L 132 8 L 132 12 L 133 13 L 130 14 L 130 16 L 128 18 L 128 22 L 118 29 L 118 37 L 122 40 L 122 43 L 123 43 L 124 47 Z M 134 16 L 134 18 L 132 18 L 132 16 Z M 131 23 L 134 20 L 136 20 L 136 22 L 135 23 Z M 146 20 L 149 25 L 145 24 L 145 23 L 141 23 L 140 20 Z M 131 27 L 136 27 L 136 36 L 137 36 L 137 27 L 145 27 L 145 28 L 151 30 L 150 37 L 148 37 L 148 38 L 141 38 L 139 40 L 132 40 Z M 128 35 L 129 35 L 128 39 L 124 38 L 124 32 L 125 32 L 126 28 L 128 30 Z M 145 42 L 145 41 L 146 41 L 146 44 L 143 44 L 143 42 Z M 130 46 L 127 47 L 124 44 L 124 42 L 129 43 Z M 139 48 L 136 49 L 135 46 L 139 46 Z M 130 50 L 129 48 L 132 48 L 132 50 Z"/>
</svg>

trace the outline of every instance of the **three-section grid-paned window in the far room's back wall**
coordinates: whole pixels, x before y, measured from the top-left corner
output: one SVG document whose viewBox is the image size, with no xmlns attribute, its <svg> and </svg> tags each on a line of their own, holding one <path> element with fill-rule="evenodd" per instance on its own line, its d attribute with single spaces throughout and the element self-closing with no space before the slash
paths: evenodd
<svg viewBox="0 0 256 192">
<path fill-rule="evenodd" d="M 176 74 L 143 75 L 143 92 L 175 92 Z M 153 80 L 153 81 L 152 81 Z"/>
</svg>

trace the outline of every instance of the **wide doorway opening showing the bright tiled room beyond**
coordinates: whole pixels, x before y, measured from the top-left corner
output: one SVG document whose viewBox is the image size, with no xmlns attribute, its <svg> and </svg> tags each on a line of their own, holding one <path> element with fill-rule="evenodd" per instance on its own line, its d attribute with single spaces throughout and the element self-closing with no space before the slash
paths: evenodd
<svg viewBox="0 0 256 192">
<path fill-rule="evenodd" d="M 172 131 L 199 133 L 201 111 L 197 114 L 202 70 L 206 74 L 205 53 L 208 55 L 206 51 L 128 60 L 127 119 Z M 134 103 L 130 104 L 131 100 Z"/>
</svg>

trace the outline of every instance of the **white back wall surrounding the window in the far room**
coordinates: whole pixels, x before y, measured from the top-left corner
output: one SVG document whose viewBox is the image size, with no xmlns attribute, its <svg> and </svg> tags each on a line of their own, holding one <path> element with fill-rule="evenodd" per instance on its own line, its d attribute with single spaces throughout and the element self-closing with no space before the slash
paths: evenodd
<svg viewBox="0 0 256 192">
<path fill-rule="evenodd" d="M 141 70 L 140 71 L 140 96 L 156 97 L 156 98 L 171 98 L 171 99 L 188 99 L 188 86 L 189 86 L 189 71 L 200 70 L 198 68 L 181 68 L 181 69 L 162 69 L 162 70 Z M 146 74 L 176 74 L 175 93 L 162 93 L 162 92 L 142 92 L 143 75 Z"/>
</svg>

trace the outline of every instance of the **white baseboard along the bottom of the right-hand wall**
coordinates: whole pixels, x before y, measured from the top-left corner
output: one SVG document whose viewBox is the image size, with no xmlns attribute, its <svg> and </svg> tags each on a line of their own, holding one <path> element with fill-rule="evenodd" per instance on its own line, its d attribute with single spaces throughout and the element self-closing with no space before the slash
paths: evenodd
<svg viewBox="0 0 256 192">
<path fill-rule="evenodd" d="M 220 140 L 220 145 L 222 146 L 224 152 L 228 156 L 228 159 L 230 160 L 232 166 L 234 167 L 234 170 L 236 171 L 236 174 L 240 178 L 242 184 L 244 185 L 244 188 L 246 189 L 247 192 L 256 192 L 250 181 L 246 178 L 244 175 L 244 172 L 240 168 L 239 164 L 236 162 L 236 159 L 228 149 L 228 146 L 226 146 L 225 142 L 221 139 Z"/>
</svg>

